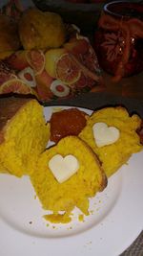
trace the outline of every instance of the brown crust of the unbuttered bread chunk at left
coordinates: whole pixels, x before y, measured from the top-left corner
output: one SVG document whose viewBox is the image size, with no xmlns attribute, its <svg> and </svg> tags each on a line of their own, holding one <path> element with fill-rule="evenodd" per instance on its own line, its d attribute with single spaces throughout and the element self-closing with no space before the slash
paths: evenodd
<svg viewBox="0 0 143 256">
<path fill-rule="evenodd" d="M 26 98 L 1 98 L 0 99 L 0 143 L 4 140 L 4 128 L 16 112 L 31 99 Z"/>
</svg>

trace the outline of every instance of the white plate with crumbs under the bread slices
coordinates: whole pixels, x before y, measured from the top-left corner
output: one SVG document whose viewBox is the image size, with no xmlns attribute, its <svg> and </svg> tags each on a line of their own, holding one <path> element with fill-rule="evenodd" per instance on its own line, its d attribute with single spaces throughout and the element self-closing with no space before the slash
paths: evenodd
<svg viewBox="0 0 143 256">
<path fill-rule="evenodd" d="M 45 107 L 47 120 L 56 108 Z M 0 175 L 0 255 L 119 255 L 143 228 L 142 158 L 143 151 L 133 154 L 129 164 L 109 178 L 108 187 L 91 199 L 92 214 L 81 222 L 75 209 L 69 224 L 48 225 L 42 218 L 47 212 L 34 198 L 28 176 Z"/>
</svg>

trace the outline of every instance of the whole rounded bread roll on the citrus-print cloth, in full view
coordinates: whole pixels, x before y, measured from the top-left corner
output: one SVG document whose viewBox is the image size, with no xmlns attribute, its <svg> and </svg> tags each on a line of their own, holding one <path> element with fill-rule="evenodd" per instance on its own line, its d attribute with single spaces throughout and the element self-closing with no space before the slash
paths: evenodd
<svg viewBox="0 0 143 256">
<path fill-rule="evenodd" d="M 19 35 L 25 50 L 58 48 L 66 38 L 61 16 L 30 8 L 19 21 Z"/>
</svg>

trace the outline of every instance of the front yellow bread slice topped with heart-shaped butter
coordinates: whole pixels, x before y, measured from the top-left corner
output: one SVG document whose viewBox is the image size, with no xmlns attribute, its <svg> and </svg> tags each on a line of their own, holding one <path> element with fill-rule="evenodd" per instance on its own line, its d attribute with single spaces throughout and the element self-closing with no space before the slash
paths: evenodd
<svg viewBox="0 0 143 256">
<path fill-rule="evenodd" d="M 89 198 L 106 187 L 107 178 L 92 149 L 77 136 L 67 136 L 40 155 L 31 183 L 43 208 L 52 211 L 46 219 L 64 222 L 71 221 L 75 206 L 89 214 Z"/>
</svg>

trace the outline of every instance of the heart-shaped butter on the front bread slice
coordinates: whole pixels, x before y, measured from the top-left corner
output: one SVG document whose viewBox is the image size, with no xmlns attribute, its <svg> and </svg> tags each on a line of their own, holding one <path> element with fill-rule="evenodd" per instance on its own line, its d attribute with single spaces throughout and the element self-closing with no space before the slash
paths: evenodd
<svg viewBox="0 0 143 256">
<path fill-rule="evenodd" d="M 68 154 L 65 157 L 61 154 L 55 154 L 49 162 L 49 168 L 57 181 L 62 183 L 77 172 L 79 163 L 72 154 Z"/>
</svg>

